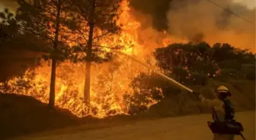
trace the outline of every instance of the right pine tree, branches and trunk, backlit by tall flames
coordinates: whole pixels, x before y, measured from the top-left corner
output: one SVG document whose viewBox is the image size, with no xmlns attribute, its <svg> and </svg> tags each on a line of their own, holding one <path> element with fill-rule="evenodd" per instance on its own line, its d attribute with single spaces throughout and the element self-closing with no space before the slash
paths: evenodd
<svg viewBox="0 0 256 140">
<path fill-rule="evenodd" d="M 114 34 L 119 33 L 117 18 L 120 14 L 120 0 L 81 0 L 75 2 L 75 20 L 79 28 L 75 31 L 78 46 L 74 51 L 82 54 L 74 55 L 75 61 L 85 61 L 85 102 L 90 102 L 91 62 L 104 61 L 109 58 L 107 48 L 113 47 Z M 107 48 L 106 48 L 107 47 Z M 117 46 L 114 46 L 117 47 Z"/>
</svg>

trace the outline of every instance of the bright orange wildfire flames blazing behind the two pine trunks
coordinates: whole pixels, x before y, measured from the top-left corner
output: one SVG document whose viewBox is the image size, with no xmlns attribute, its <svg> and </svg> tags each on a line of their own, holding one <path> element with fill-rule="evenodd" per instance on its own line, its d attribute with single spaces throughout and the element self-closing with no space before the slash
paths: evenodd
<svg viewBox="0 0 256 140">
<path fill-rule="evenodd" d="M 123 53 L 143 59 L 153 48 L 171 42 L 166 33 L 156 35 L 152 28 L 141 30 L 141 24 L 131 14 L 128 1 L 122 2 L 121 9 L 123 12 L 118 23 L 123 25 L 122 33 L 113 36 L 114 39 L 111 43 L 124 46 L 121 50 Z M 141 33 L 145 33 L 143 39 L 139 37 Z M 159 43 L 152 39 L 152 34 L 154 34 L 155 39 L 160 38 L 162 42 Z M 58 64 L 56 71 L 56 106 L 69 109 L 72 114 L 78 117 L 91 115 L 103 118 L 117 114 L 128 114 L 129 104 L 133 104 L 133 102 L 124 98 L 124 95 L 133 95 L 130 82 L 140 72 L 148 72 L 149 70 L 134 61 L 128 60 L 125 56 L 115 55 L 114 57 L 113 61 L 94 64 L 92 67 L 91 103 L 89 108 L 83 100 L 85 64 L 74 64 L 69 61 Z M 0 89 L 0 92 L 29 95 L 47 103 L 50 90 L 50 70 L 50 62 L 43 61 L 40 67 L 27 70 L 24 76 L 14 77 L 8 81 L 8 90 Z M 4 85 L 2 84 L 2 86 Z M 143 104 L 146 107 L 158 102 L 150 95 L 145 95 L 145 98 L 149 101 L 148 104 Z"/>
</svg>

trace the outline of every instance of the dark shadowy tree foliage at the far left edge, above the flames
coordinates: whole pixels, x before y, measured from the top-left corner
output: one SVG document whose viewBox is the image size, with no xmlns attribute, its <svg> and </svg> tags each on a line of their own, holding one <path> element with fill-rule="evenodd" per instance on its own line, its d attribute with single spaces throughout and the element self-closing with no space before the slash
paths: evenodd
<svg viewBox="0 0 256 140">
<path fill-rule="evenodd" d="M 0 82 L 12 76 L 22 76 L 30 67 L 38 66 L 43 42 L 30 33 L 22 32 L 20 20 L 8 9 L 0 12 Z"/>
</svg>

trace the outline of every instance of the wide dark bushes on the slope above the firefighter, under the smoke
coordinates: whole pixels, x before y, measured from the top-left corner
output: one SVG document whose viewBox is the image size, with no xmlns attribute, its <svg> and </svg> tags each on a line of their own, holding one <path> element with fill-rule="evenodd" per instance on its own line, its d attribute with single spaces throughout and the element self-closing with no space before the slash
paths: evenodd
<svg viewBox="0 0 256 140">
<path fill-rule="evenodd" d="M 243 78 L 242 64 L 252 64 L 255 55 L 248 50 L 234 48 L 229 44 L 216 43 L 211 47 L 206 42 L 171 44 L 166 48 L 157 48 L 154 57 L 160 67 L 168 75 L 187 84 L 200 84 L 195 82 L 207 76 L 216 76 L 221 70 L 219 78 Z M 192 79 L 187 80 L 187 79 Z"/>
</svg>

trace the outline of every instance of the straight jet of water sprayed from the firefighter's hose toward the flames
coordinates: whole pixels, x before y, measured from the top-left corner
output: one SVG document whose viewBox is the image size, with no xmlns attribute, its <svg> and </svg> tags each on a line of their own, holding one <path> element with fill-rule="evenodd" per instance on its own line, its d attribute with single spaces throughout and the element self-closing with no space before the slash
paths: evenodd
<svg viewBox="0 0 256 140">
<path fill-rule="evenodd" d="M 139 60 L 137 60 L 136 58 L 133 58 L 133 57 L 131 57 L 130 55 L 125 54 L 125 53 L 123 53 L 123 52 L 121 52 L 121 51 L 117 51 L 117 50 L 113 50 L 113 49 L 110 49 L 110 50 L 113 51 L 113 52 L 116 52 L 117 54 L 125 55 L 127 58 L 130 58 L 131 60 L 136 61 L 136 62 L 138 62 L 139 64 L 142 64 L 142 66 L 147 67 L 147 68 L 149 68 L 150 70 L 153 70 L 153 71 L 154 71 L 155 73 L 157 73 L 158 75 L 164 77 L 165 79 L 168 79 L 168 81 L 170 81 L 171 83 L 173 83 L 175 86 L 178 86 L 178 87 L 181 88 L 181 89 L 185 89 L 185 90 L 187 90 L 188 92 L 194 93 L 194 91 L 193 91 L 192 89 L 189 89 L 189 88 L 187 88 L 186 86 L 182 85 L 181 83 L 175 81 L 174 79 L 172 79 L 172 78 L 170 78 L 170 77 L 168 77 L 168 76 L 165 76 L 165 74 L 161 73 L 161 72 L 158 71 L 158 70 L 155 70 L 154 68 L 150 67 L 150 66 L 147 65 L 147 64 L 144 64 L 142 61 L 139 61 Z"/>
</svg>

